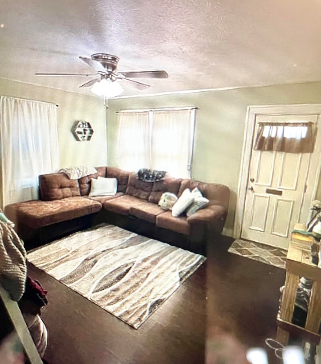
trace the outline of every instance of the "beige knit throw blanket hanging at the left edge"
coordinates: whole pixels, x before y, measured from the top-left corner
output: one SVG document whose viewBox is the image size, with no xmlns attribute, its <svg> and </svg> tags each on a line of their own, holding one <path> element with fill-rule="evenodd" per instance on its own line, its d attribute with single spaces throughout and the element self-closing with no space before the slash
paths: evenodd
<svg viewBox="0 0 321 364">
<path fill-rule="evenodd" d="M 0 221 L 0 283 L 14 301 L 25 291 L 26 250 L 12 226 Z"/>
</svg>

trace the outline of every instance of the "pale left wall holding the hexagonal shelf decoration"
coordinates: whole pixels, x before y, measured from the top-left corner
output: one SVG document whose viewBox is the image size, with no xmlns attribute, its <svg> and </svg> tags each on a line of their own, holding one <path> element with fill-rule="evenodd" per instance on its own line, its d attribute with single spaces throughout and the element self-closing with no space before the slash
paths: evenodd
<svg viewBox="0 0 321 364">
<path fill-rule="evenodd" d="M 99 166 L 107 163 L 106 112 L 96 97 L 0 79 L 0 95 L 51 102 L 57 109 L 60 166 Z M 89 121 L 90 141 L 77 141 L 71 128 L 76 120 Z"/>
</svg>

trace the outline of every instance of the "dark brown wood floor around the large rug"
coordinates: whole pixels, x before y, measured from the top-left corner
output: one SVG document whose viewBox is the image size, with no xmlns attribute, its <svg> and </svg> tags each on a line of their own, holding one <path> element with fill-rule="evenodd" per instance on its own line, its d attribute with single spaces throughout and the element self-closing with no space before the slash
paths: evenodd
<svg viewBox="0 0 321 364">
<path fill-rule="evenodd" d="M 285 271 L 211 244 L 208 260 L 137 330 L 41 270 L 29 274 L 49 291 L 43 320 L 50 364 L 243 363 L 248 347 L 275 338 Z M 219 361 L 218 357 L 225 357 Z"/>
</svg>

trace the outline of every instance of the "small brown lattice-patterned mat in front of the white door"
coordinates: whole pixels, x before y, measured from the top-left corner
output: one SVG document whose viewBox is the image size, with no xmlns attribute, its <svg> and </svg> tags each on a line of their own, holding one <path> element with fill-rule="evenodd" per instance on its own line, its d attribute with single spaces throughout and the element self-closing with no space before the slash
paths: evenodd
<svg viewBox="0 0 321 364">
<path fill-rule="evenodd" d="M 285 249 L 237 239 L 230 246 L 228 252 L 285 269 L 285 258 L 287 253 Z"/>
</svg>

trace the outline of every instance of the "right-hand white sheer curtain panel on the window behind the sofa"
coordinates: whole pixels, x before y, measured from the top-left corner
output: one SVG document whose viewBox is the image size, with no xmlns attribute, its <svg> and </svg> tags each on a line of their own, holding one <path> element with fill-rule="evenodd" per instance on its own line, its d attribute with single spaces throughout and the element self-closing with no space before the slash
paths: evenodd
<svg viewBox="0 0 321 364">
<path fill-rule="evenodd" d="M 195 109 L 153 113 L 151 156 L 154 169 L 175 177 L 190 178 Z"/>
</svg>

